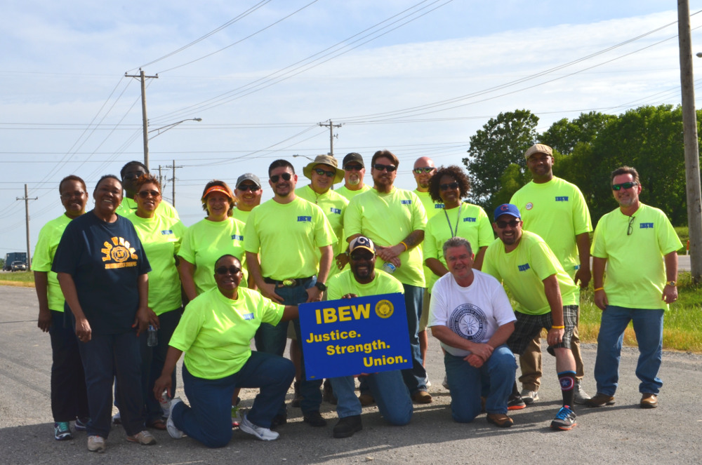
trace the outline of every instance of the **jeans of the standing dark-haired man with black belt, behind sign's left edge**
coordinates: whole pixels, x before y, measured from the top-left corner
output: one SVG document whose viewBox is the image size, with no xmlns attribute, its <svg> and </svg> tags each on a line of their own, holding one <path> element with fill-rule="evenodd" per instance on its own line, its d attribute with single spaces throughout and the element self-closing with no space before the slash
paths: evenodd
<svg viewBox="0 0 702 465">
<path fill-rule="evenodd" d="M 275 293 L 283 297 L 284 305 L 297 305 L 307 302 L 307 289 L 317 283 L 317 278 L 312 278 L 307 285 L 298 285 L 294 288 L 276 288 Z M 295 334 L 298 341 L 302 341 L 300 337 L 300 320 L 293 320 Z M 274 353 L 282 356 L 285 351 L 287 342 L 288 322 L 281 321 L 277 325 L 269 325 L 263 323 L 256 332 L 256 350 L 265 353 Z M 300 349 L 302 349 L 300 347 Z M 302 371 L 302 380 L 300 381 L 300 410 L 303 414 L 307 412 L 319 411 L 319 405 L 322 405 L 322 391 L 319 391 L 319 386 L 322 386 L 322 379 L 305 379 L 305 353 L 300 350 L 300 370 Z M 284 410 L 283 410 L 284 411 Z"/>
</svg>

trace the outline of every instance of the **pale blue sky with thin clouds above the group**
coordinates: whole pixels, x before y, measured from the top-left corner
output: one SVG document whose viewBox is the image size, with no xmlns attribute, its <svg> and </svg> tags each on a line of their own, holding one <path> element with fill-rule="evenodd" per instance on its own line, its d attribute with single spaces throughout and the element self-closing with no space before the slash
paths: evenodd
<svg viewBox="0 0 702 465">
<path fill-rule="evenodd" d="M 15 200 L 23 184 L 39 197 L 29 204 L 34 248 L 41 226 L 62 213 L 63 176 L 84 177 L 92 191 L 100 175 L 143 159 L 140 90 L 125 72 L 137 73 L 250 8 L 144 67 L 159 73 L 147 89 L 150 128 L 203 120 L 150 142 L 152 171 L 173 160 L 184 166 L 176 171 L 176 207 L 186 225 L 202 217 L 199 196 L 208 180 L 233 184 L 246 171 L 265 180 L 276 158 L 329 151 L 329 131 L 316 126 L 329 119 L 343 123 L 335 130 L 339 158 L 359 151 L 370 159 L 376 149 L 390 149 L 401 160 L 399 186 L 413 188 L 414 159 L 461 163 L 470 136 L 500 112 L 530 109 L 545 130 L 591 109 L 619 113 L 680 102 L 675 24 L 533 77 L 675 22 L 675 2 L 157 0 L 136 8 L 122 1 L 9 1 L 0 18 L 0 255 L 25 250 L 24 204 Z M 699 11 L 702 0 L 690 8 Z M 402 11 L 410 16 L 387 34 L 244 91 Z M 691 24 L 702 26 L 702 14 Z M 694 46 L 700 38 L 694 30 Z M 432 107 L 390 114 L 423 105 Z M 304 159 L 291 160 L 301 174 Z M 306 184 L 300 177 L 298 185 Z M 170 192 L 169 180 L 166 198 Z"/>
</svg>

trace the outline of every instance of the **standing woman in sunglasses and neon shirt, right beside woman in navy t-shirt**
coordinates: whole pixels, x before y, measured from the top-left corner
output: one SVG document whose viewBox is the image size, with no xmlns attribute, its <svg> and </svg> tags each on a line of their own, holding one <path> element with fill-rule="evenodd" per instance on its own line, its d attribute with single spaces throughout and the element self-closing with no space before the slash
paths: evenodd
<svg viewBox="0 0 702 465">
<path fill-rule="evenodd" d="M 157 330 L 155 346 L 147 344 L 147 335 L 142 335 L 142 389 L 145 401 L 146 426 L 166 429 L 162 419 L 164 412 L 159 401 L 150 393 L 154 382 L 161 375 L 168 351 L 168 341 L 180 321 L 180 277 L 176 267 L 176 254 L 183 241 L 185 226 L 175 218 L 157 215 L 161 205 L 161 184 L 150 174 L 141 175 L 134 182 L 137 209 L 127 215 L 141 239 L 149 262 L 149 314 L 153 329 Z M 150 328 L 152 330 L 152 328 Z M 176 376 L 173 375 L 173 389 Z M 118 386 L 119 389 L 119 386 Z"/>
</svg>

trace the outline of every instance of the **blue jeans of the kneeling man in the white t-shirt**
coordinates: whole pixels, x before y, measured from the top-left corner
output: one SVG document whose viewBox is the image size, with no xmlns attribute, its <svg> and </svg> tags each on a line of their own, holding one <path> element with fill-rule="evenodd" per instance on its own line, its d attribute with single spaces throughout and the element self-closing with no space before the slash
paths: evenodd
<svg viewBox="0 0 702 465">
<path fill-rule="evenodd" d="M 479 415 L 483 386 L 489 386 L 485 392 L 486 412 L 507 413 L 507 399 L 517 373 L 517 360 L 508 346 L 496 347 L 480 368 L 446 352 L 444 366 L 451 391 L 451 416 L 456 422 L 470 423 Z"/>
</svg>

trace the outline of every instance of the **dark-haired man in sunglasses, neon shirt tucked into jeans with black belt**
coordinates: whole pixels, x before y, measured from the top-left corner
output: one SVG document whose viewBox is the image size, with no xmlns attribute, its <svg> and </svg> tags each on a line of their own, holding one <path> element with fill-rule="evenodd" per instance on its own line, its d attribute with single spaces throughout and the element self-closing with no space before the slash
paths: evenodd
<svg viewBox="0 0 702 465">
<path fill-rule="evenodd" d="M 298 176 L 289 161 L 271 163 L 268 176 L 273 198 L 251 210 L 246 222 L 244 249 L 249 271 L 261 294 L 273 302 L 319 302 L 326 290 L 337 238 L 322 208 L 295 194 Z M 299 340 L 298 318 L 293 325 Z M 261 325 L 256 332 L 256 349 L 282 356 L 287 327 L 286 322 Z M 312 426 L 324 426 L 326 421 L 319 414 L 322 380 L 305 380 L 304 360 L 300 358 L 304 420 Z M 278 417 L 275 424 L 285 422 L 286 417 Z"/>
</svg>

